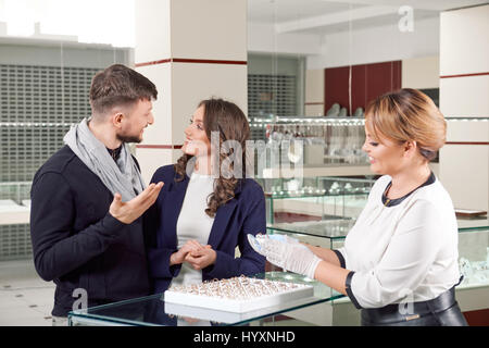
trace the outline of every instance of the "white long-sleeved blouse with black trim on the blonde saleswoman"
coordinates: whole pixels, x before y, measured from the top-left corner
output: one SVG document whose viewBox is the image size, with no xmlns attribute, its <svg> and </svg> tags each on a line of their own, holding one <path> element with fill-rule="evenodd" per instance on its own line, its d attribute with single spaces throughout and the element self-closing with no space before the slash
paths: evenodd
<svg viewBox="0 0 489 348">
<path fill-rule="evenodd" d="M 426 301 L 459 282 L 457 224 L 441 183 L 422 186 L 385 207 L 390 176 L 380 177 L 338 251 L 351 276 L 350 298 L 361 308 Z"/>
</svg>

